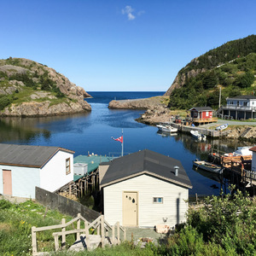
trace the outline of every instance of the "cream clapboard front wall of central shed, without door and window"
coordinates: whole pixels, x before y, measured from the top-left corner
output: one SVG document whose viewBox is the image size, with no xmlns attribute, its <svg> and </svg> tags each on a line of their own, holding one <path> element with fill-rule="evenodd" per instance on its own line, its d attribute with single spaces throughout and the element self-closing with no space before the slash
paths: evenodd
<svg viewBox="0 0 256 256">
<path fill-rule="evenodd" d="M 138 192 L 138 225 L 153 227 L 164 224 L 174 226 L 185 221 L 189 189 L 167 183 L 155 177 L 141 175 L 104 188 L 104 215 L 109 224 L 123 224 L 123 191 Z M 163 197 L 163 204 L 154 204 L 153 197 Z"/>
</svg>

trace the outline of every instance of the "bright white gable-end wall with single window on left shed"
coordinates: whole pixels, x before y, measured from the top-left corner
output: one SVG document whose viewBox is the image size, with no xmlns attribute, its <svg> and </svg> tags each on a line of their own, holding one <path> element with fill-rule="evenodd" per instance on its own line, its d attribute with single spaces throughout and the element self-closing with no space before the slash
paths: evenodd
<svg viewBox="0 0 256 256">
<path fill-rule="evenodd" d="M 70 158 L 70 173 L 66 175 L 66 159 Z M 40 171 L 40 188 L 53 192 L 73 180 L 73 154 L 58 151 Z"/>
</svg>

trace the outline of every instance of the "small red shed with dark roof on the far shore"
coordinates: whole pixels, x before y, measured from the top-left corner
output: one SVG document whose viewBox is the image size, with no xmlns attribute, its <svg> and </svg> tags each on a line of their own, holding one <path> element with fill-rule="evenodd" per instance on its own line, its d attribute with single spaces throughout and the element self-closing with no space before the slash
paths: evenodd
<svg viewBox="0 0 256 256">
<path fill-rule="evenodd" d="M 217 119 L 212 118 L 213 110 L 210 107 L 195 107 L 190 108 L 189 111 L 193 123 L 204 124 L 217 122 Z"/>
</svg>

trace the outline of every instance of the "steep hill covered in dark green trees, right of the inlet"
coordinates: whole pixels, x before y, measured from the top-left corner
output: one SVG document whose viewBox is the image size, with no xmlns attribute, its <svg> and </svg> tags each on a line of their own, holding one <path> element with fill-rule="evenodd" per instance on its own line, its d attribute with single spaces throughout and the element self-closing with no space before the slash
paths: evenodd
<svg viewBox="0 0 256 256">
<path fill-rule="evenodd" d="M 166 91 L 169 108 L 218 108 L 226 97 L 253 94 L 256 86 L 256 36 L 230 41 L 190 61 Z"/>
</svg>

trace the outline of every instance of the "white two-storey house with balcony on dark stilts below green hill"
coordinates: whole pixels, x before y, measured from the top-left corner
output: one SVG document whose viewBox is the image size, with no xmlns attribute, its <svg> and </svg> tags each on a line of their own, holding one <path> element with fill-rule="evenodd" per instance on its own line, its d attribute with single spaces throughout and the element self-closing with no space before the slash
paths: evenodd
<svg viewBox="0 0 256 256">
<path fill-rule="evenodd" d="M 256 96 L 243 95 L 227 98 L 227 105 L 218 109 L 222 118 L 256 119 Z"/>
</svg>

